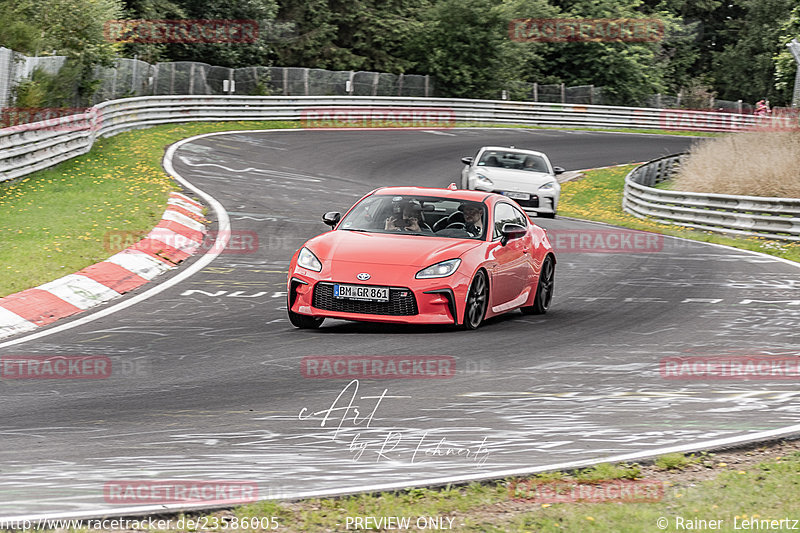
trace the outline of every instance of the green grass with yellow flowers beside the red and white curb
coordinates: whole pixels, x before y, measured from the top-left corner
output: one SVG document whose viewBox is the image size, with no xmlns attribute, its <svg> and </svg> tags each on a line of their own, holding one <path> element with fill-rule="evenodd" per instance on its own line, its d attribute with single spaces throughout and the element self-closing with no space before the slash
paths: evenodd
<svg viewBox="0 0 800 533">
<path fill-rule="evenodd" d="M 164 147 L 211 131 L 291 128 L 292 122 L 164 125 L 99 139 L 85 155 L 0 183 L 0 297 L 102 261 L 109 232 L 144 236 L 161 219 L 175 182 Z"/>
</svg>

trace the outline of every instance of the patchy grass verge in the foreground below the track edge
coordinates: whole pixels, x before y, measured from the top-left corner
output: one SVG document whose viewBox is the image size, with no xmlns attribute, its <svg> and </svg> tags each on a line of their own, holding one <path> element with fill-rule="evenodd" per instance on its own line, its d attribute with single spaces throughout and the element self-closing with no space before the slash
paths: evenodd
<svg viewBox="0 0 800 533">
<path fill-rule="evenodd" d="M 341 498 L 314 498 L 294 503 L 264 501 L 214 513 L 148 518 L 170 519 L 171 524 L 177 524 L 183 518 L 182 531 L 202 529 L 185 527 L 187 519 L 190 519 L 196 524 L 205 524 L 204 530 L 312 533 L 399 530 L 385 527 L 385 520 L 389 517 L 407 519 L 411 524 L 408 530 L 412 531 L 422 530 L 417 525 L 418 520 L 420 525 L 430 525 L 432 520 L 438 520 L 437 523 L 444 526 L 442 529 L 467 533 L 786 531 L 791 529 L 791 522 L 783 528 L 774 525 L 765 527 L 763 523 L 757 528 L 746 521 L 799 518 L 796 516 L 797 509 L 800 509 L 800 490 L 797 490 L 800 484 L 800 443 L 797 441 L 749 450 L 708 453 L 703 457 L 706 460 L 699 461 L 694 456 L 681 459 L 673 456 L 663 465 L 659 465 L 659 461 L 648 465 L 603 464 L 527 479 Z M 684 466 L 676 469 L 676 463 Z M 617 496 L 620 492 L 607 489 L 614 483 L 639 483 L 639 486 L 644 485 L 648 490 L 657 488 L 657 496 L 649 498 L 648 502 L 624 501 Z M 525 488 L 522 493 L 520 487 Z M 560 493 L 565 495 L 561 502 L 541 501 L 542 497 L 552 494 L 547 490 L 556 487 L 560 487 Z M 602 501 L 570 502 L 571 496 L 577 494 L 570 492 L 572 487 L 594 490 L 595 496 L 603 495 L 596 498 Z M 367 518 L 369 522 L 366 522 Z M 255 527 L 253 519 L 257 519 Z M 360 519 L 362 527 L 357 527 L 357 519 Z M 376 525 L 381 519 L 384 520 L 382 528 Z M 143 523 L 146 524 L 146 520 Z M 711 520 L 718 521 L 717 527 L 708 526 Z M 700 525 L 701 521 L 705 521 L 706 525 Z M 369 527 L 366 527 L 367 524 Z M 659 524 L 666 524 L 666 527 L 659 527 Z M 130 525 L 128 529 L 132 529 Z M 174 531 L 177 528 L 133 529 Z"/>
</svg>

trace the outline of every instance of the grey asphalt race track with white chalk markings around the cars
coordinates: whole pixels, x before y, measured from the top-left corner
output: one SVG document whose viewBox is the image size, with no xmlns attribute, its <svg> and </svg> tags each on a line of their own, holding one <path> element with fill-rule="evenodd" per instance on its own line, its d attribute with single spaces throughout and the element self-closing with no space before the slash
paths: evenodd
<svg viewBox="0 0 800 533">
<path fill-rule="evenodd" d="M 101 355 L 114 365 L 108 379 L 0 381 L 0 516 L 136 506 L 106 501 L 114 480 L 254 481 L 261 497 L 294 497 L 662 453 L 800 424 L 796 380 L 660 372 L 669 356 L 796 353 L 800 271 L 743 251 L 672 238 L 656 251 L 565 251 L 547 315 L 514 312 L 474 332 L 331 320 L 300 331 L 286 319 L 292 253 L 327 229 L 322 213 L 375 187 L 446 186 L 460 158 L 483 145 L 539 149 L 574 170 L 697 141 L 453 129 L 232 133 L 183 145 L 177 171 L 258 246 L 223 253 L 118 313 L 0 343 L 0 356 Z M 551 232 L 617 231 L 536 222 Z M 345 390 L 347 380 L 304 378 L 309 355 L 447 355 L 456 374 Z M 354 423 L 352 410 L 345 420 L 334 411 L 324 427 L 321 415 L 298 416 L 324 411 L 343 391 L 336 405 L 352 398 L 362 413 L 374 410 L 369 425 Z"/>
</svg>

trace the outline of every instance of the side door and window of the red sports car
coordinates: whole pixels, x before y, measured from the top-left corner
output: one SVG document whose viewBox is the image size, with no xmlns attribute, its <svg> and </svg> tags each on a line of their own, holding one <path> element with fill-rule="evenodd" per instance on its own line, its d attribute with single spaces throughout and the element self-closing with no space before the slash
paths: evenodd
<svg viewBox="0 0 800 533">
<path fill-rule="evenodd" d="M 526 300 L 523 292 L 530 286 L 531 241 L 530 232 L 525 237 L 502 244 L 500 230 L 504 224 L 528 227 L 527 217 L 511 204 L 498 202 L 494 206 L 492 256 L 492 309 L 495 312 L 511 309 Z"/>
</svg>

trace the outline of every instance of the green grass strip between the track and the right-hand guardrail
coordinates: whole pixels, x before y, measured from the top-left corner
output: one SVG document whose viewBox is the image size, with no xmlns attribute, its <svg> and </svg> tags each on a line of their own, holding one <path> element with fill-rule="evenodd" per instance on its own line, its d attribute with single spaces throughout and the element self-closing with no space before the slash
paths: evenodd
<svg viewBox="0 0 800 533">
<path fill-rule="evenodd" d="M 584 179 L 565 183 L 561 188 L 561 200 L 558 204 L 559 214 L 697 241 L 726 244 L 735 248 L 800 261 L 800 243 L 763 237 L 728 237 L 710 231 L 643 220 L 625 213 L 622 210 L 622 191 L 625 176 L 632 168 L 634 165 L 590 170 L 586 172 Z"/>
</svg>

